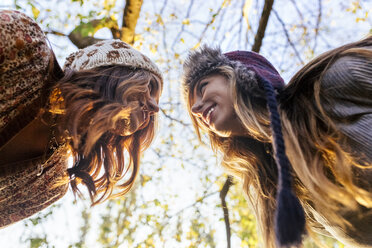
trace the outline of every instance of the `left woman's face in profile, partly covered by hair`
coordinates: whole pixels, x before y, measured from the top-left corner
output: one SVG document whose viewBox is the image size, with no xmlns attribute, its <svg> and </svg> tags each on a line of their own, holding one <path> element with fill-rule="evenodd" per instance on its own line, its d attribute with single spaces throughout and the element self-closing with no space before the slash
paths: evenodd
<svg viewBox="0 0 372 248">
<path fill-rule="evenodd" d="M 130 113 L 129 126 L 124 131 L 125 136 L 145 128 L 151 116 L 159 112 L 160 91 L 160 83 L 157 80 L 151 80 L 147 85 L 145 96 L 132 101 L 132 104 L 137 106 Z"/>
</svg>

